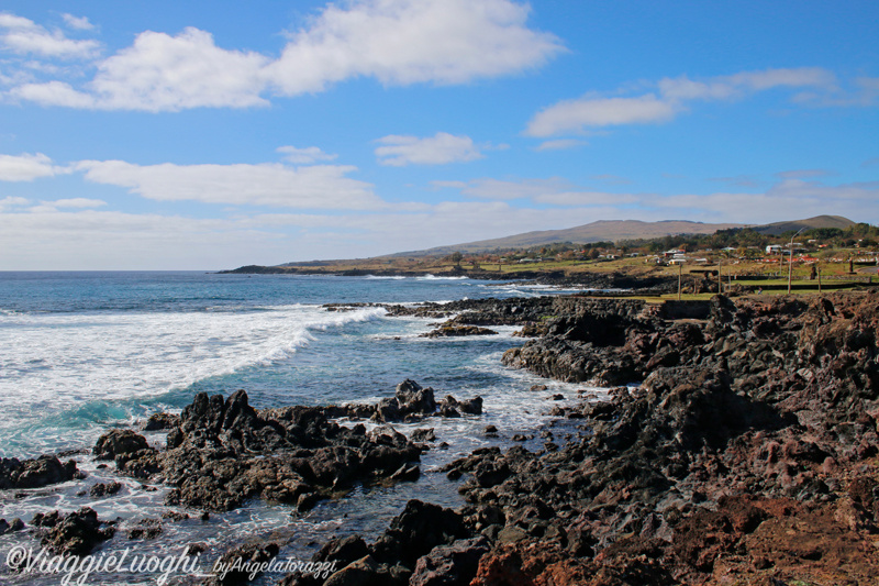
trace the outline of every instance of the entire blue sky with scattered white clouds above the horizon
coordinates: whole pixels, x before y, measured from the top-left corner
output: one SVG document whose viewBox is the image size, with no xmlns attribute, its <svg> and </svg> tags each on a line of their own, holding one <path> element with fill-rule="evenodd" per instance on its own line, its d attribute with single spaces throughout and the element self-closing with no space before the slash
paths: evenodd
<svg viewBox="0 0 879 586">
<path fill-rule="evenodd" d="M 879 223 L 876 0 L 3 0 L 0 270 Z"/>
</svg>

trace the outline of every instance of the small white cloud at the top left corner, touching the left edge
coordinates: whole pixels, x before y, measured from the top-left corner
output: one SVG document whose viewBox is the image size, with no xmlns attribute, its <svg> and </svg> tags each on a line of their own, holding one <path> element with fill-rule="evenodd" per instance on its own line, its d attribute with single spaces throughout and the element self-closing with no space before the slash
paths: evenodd
<svg viewBox="0 0 879 586">
<path fill-rule="evenodd" d="M 0 45 L 21 55 L 42 57 L 91 58 L 101 48 L 92 40 L 67 38 L 63 32 L 49 32 L 32 20 L 0 13 Z"/>
</svg>

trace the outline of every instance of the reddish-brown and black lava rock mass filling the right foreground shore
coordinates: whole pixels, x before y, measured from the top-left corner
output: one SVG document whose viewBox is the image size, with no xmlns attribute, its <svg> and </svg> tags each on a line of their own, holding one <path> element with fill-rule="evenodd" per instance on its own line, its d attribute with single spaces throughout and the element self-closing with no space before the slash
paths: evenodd
<svg viewBox="0 0 879 586">
<path fill-rule="evenodd" d="M 482 449 L 449 464 L 468 501 L 458 539 L 414 562 L 360 548 L 326 581 L 286 584 L 874 584 L 879 295 L 694 309 L 554 305 L 508 364 L 643 384 L 571 413 L 581 431 L 556 450 Z M 456 566 L 454 551 L 478 563 Z"/>
</svg>

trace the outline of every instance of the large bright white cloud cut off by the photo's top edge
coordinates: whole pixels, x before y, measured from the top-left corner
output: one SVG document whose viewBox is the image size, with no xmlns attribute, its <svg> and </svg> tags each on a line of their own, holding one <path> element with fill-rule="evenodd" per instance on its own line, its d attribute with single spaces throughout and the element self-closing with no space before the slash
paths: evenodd
<svg viewBox="0 0 879 586">
<path fill-rule="evenodd" d="M 558 40 L 526 26 L 510 0 L 363 0 L 330 4 L 292 35 L 270 77 L 281 93 L 322 91 L 351 77 L 386 85 L 463 84 L 543 65 Z"/>
</svg>

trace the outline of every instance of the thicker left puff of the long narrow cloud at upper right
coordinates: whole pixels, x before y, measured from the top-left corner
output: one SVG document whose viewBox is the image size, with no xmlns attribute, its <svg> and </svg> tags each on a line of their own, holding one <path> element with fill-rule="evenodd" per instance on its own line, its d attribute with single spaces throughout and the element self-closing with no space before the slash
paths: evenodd
<svg viewBox="0 0 879 586">
<path fill-rule="evenodd" d="M 675 103 L 658 99 L 653 93 L 637 98 L 566 100 L 538 112 L 525 133 L 545 137 L 581 133 L 590 128 L 666 122 L 675 117 L 677 110 Z"/>
</svg>

